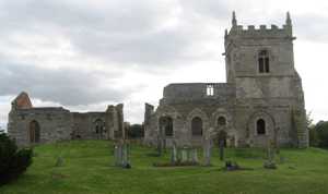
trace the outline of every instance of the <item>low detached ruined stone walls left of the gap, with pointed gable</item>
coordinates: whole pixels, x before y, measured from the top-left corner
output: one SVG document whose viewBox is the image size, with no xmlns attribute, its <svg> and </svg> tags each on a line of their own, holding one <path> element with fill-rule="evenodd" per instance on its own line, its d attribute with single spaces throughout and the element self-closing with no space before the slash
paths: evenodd
<svg viewBox="0 0 328 194">
<path fill-rule="evenodd" d="M 124 126 L 122 104 L 108 106 L 104 112 L 70 112 L 62 107 L 33 107 L 26 93 L 13 101 L 8 133 L 17 145 L 65 140 L 115 140 Z"/>
</svg>

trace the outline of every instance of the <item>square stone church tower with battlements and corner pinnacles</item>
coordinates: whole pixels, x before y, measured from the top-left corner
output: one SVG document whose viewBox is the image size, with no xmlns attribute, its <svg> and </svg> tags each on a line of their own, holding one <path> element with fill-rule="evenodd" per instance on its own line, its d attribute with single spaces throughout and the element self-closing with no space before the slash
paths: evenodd
<svg viewBox="0 0 328 194">
<path fill-rule="evenodd" d="M 247 126 L 237 134 L 248 144 L 265 144 L 268 138 L 300 147 L 308 144 L 294 39 L 289 13 L 282 28 L 260 25 L 259 29 L 244 29 L 233 13 L 224 37 L 226 77 L 236 88 L 235 128 Z M 266 130 L 260 131 L 261 125 Z"/>
</svg>

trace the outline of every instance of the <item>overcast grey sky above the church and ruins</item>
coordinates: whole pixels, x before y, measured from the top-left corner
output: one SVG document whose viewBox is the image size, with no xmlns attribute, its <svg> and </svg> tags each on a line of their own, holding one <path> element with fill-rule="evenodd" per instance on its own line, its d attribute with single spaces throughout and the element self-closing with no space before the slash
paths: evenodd
<svg viewBox="0 0 328 194">
<path fill-rule="evenodd" d="M 0 0 L 0 125 L 22 90 L 34 106 L 104 111 L 125 104 L 142 122 L 178 82 L 225 82 L 223 35 L 292 15 L 306 109 L 328 120 L 326 0 Z"/>
</svg>

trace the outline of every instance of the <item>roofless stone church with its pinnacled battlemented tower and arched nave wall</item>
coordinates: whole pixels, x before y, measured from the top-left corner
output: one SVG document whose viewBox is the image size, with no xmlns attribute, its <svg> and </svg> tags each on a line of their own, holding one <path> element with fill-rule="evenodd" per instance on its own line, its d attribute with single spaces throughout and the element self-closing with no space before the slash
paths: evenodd
<svg viewBox="0 0 328 194">
<path fill-rule="evenodd" d="M 294 68 L 292 21 L 225 31 L 226 83 L 177 83 L 160 106 L 145 106 L 145 143 L 200 145 L 226 134 L 229 145 L 307 147 L 302 81 Z"/>
</svg>

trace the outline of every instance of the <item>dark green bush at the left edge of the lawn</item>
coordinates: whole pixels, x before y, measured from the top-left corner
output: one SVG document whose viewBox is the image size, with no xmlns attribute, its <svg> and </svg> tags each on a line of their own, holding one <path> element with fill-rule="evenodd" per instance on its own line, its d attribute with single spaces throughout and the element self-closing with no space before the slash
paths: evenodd
<svg viewBox="0 0 328 194">
<path fill-rule="evenodd" d="M 14 141 L 0 134 L 0 184 L 15 180 L 32 163 L 33 150 L 17 149 Z"/>
</svg>

